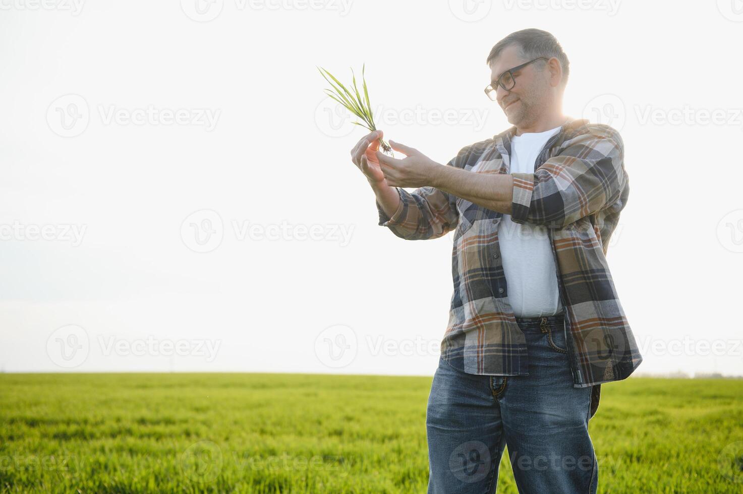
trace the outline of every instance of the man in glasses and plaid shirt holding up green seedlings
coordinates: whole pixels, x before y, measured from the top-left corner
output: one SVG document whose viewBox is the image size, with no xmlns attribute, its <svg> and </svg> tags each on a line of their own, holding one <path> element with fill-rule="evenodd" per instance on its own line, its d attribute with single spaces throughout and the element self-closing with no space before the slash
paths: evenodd
<svg viewBox="0 0 743 494">
<path fill-rule="evenodd" d="M 487 64 L 507 131 L 446 166 L 392 140 L 406 157 L 383 155 L 381 131 L 351 151 L 381 226 L 407 240 L 455 230 L 428 492 L 495 492 L 507 445 L 520 493 L 595 493 L 600 385 L 642 362 L 606 262 L 629 196 L 623 140 L 562 114 L 569 64 L 550 33 L 511 33 Z"/>
</svg>

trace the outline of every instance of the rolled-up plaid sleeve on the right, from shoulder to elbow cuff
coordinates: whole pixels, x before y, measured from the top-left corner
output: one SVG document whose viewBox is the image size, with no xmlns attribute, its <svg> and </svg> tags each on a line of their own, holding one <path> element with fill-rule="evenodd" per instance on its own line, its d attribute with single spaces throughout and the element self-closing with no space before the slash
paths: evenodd
<svg viewBox="0 0 743 494">
<path fill-rule="evenodd" d="M 620 200 L 628 186 L 622 138 L 603 124 L 588 129 L 534 173 L 511 174 L 513 222 L 563 228 Z"/>
</svg>

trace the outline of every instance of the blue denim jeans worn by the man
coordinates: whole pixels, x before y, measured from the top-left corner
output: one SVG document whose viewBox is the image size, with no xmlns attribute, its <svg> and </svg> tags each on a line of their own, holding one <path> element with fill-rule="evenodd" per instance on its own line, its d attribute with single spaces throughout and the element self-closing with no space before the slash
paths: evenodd
<svg viewBox="0 0 743 494">
<path fill-rule="evenodd" d="M 467 374 L 439 360 L 426 410 L 429 494 L 495 493 L 506 445 L 519 493 L 596 493 L 591 387 L 573 387 L 563 314 L 516 321 L 528 376 Z"/>
</svg>

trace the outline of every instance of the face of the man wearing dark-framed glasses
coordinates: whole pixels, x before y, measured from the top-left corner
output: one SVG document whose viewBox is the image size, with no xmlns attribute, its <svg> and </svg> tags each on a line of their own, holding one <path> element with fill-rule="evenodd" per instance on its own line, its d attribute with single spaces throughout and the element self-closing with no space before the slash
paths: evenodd
<svg viewBox="0 0 743 494">
<path fill-rule="evenodd" d="M 491 62 L 490 80 L 495 81 L 504 71 L 528 61 L 519 58 L 518 48 L 511 45 Z M 527 126 L 549 105 L 550 73 L 542 67 L 545 62 L 538 60 L 514 72 L 516 85 L 510 91 L 500 85 L 496 88 L 496 101 L 512 125 Z"/>
</svg>

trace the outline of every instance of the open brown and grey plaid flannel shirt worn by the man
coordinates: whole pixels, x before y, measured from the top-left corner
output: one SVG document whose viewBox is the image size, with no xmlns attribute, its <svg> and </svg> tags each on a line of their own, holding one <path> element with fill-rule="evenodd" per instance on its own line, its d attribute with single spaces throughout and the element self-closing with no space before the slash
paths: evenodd
<svg viewBox="0 0 743 494">
<path fill-rule="evenodd" d="M 512 126 L 462 148 L 447 163 L 476 173 L 510 173 Z M 562 307 L 573 386 L 592 389 L 622 380 L 643 360 L 609 272 L 611 233 L 629 196 L 620 134 L 568 117 L 542 148 L 533 173 L 513 173 L 511 220 L 546 227 Z M 516 323 L 498 241 L 503 213 L 432 186 L 408 192 L 389 217 L 377 201 L 379 225 L 400 238 L 426 240 L 455 229 L 452 293 L 441 357 L 470 374 L 527 375 L 525 337 Z"/>
</svg>

